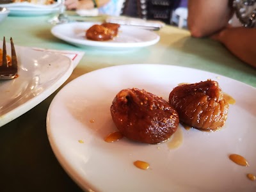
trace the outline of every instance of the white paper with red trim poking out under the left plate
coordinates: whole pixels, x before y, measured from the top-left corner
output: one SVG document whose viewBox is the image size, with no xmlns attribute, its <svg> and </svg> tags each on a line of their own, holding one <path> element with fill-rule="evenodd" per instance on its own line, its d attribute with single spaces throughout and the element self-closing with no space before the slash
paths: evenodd
<svg viewBox="0 0 256 192">
<path fill-rule="evenodd" d="M 77 64 L 83 58 L 83 55 L 84 55 L 84 52 L 82 51 L 67 51 L 67 50 L 61 51 L 61 50 L 54 50 L 54 49 L 42 49 L 38 47 L 33 47 L 32 49 L 35 51 L 52 52 L 56 54 L 65 55 L 72 60 L 74 68 L 76 68 Z"/>
</svg>

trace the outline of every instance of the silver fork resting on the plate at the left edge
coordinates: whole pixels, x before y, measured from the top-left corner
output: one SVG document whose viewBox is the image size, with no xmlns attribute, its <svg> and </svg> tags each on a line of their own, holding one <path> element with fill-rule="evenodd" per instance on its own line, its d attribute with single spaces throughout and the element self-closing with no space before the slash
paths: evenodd
<svg viewBox="0 0 256 192">
<path fill-rule="evenodd" d="M 5 37 L 3 40 L 3 64 L 0 66 L 0 79 L 13 79 L 17 76 L 18 72 L 18 64 L 17 64 L 17 56 L 15 52 L 15 47 L 13 45 L 13 40 L 11 37 L 11 47 L 12 47 L 12 62 L 10 65 L 7 63 L 6 58 L 6 44 L 5 44 Z"/>
</svg>

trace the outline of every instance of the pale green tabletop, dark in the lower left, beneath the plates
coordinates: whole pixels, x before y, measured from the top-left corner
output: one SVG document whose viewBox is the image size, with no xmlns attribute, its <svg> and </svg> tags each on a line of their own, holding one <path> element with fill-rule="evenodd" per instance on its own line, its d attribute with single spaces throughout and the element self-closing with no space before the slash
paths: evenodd
<svg viewBox="0 0 256 192">
<path fill-rule="evenodd" d="M 238 60 L 220 43 L 208 38 L 191 38 L 184 29 L 164 26 L 156 31 L 161 36 L 156 45 L 136 51 L 100 51 L 90 47 L 81 49 L 53 36 L 52 25 L 47 22 L 50 17 L 9 16 L 0 23 L 0 38 L 12 36 L 16 45 L 28 47 L 84 51 L 82 60 L 63 86 L 99 68 L 159 63 L 214 72 L 256 87 L 255 68 Z M 82 191 L 61 168 L 47 138 L 47 110 L 63 86 L 35 108 L 0 127 L 0 191 Z"/>
</svg>

